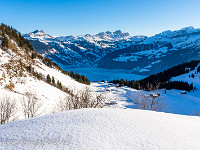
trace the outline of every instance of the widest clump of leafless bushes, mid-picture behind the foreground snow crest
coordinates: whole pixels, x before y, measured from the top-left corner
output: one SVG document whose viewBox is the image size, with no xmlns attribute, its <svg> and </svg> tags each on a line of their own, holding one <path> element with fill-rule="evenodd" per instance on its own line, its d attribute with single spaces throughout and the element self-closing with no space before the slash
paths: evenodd
<svg viewBox="0 0 200 150">
<path fill-rule="evenodd" d="M 71 94 L 61 99 L 57 107 L 58 110 L 63 111 L 80 108 L 102 108 L 104 105 L 103 95 L 93 96 L 90 89 L 86 87 L 76 95 Z"/>
</svg>

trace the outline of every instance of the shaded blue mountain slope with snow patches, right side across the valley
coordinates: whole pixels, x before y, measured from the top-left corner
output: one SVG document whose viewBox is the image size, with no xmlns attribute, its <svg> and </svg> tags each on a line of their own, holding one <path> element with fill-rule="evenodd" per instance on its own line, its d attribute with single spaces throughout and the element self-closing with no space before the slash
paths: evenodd
<svg viewBox="0 0 200 150">
<path fill-rule="evenodd" d="M 98 67 L 124 68 L 151 75 L 194 59 L 199 59 L 200 29 L 192 27 L 165 31 L 107 54 Z"/>
</svg>

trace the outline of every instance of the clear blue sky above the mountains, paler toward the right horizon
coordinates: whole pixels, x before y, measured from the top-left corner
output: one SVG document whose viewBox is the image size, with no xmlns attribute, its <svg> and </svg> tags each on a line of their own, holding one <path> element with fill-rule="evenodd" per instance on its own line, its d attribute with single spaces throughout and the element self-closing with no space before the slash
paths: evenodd
<svg viewBox="0 0 200 150">
<path fill-rule="evenodd" d="M 22 33 L 96 34 L 120 29 L 154 35 L 200 28 L 200 0 L 0 0 L 0 22 Z"/>
</svg>

